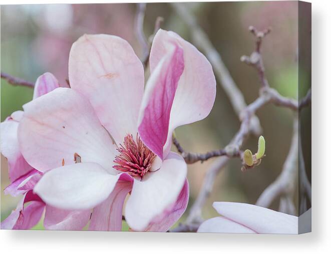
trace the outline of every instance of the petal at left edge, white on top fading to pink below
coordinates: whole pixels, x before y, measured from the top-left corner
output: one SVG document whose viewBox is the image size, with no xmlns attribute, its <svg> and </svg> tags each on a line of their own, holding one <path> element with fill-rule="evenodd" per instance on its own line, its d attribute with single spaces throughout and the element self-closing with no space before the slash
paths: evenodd
<svg viewBox="0 0 331 254">
<path fill-rule="evenodd" d="M 22 156 L 18 141 L 19 120 L 24 112 L 16 111 L 7 120 L 0 124 L 1 127 L 1 153 L 7 158 L 9 178 L 14 182 L 20 176 L 27 174 L 33 168 Z"/>
</svg>

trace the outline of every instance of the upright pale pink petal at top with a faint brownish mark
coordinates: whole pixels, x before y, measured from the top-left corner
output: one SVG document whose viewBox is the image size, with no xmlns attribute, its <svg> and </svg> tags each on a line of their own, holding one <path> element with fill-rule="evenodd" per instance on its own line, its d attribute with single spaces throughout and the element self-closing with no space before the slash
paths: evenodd
<svg viewBox="0 0 331 254">
<path fill-rule="evenodd" d="M 130 44 L 111 35 L 84 35 L 69 56 L 71 88 L 83 93 L 117 144 L 137 133 L 144 68 Z"/>
</svg>

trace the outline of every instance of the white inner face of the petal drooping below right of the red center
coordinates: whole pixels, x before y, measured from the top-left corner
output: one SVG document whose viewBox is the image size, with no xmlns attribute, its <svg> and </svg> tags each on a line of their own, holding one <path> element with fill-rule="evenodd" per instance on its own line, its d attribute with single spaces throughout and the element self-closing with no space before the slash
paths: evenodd
<svg viewBox="0 0 331 254">
<path fill-rule="evenodd" d="M 174 204 L 185 183 L 186 173 L 184 159 L 171 152 L 158 171 L 146 174 L 143 181 L 135 179 L 125 207 L 128 225 L 135 231 L 142 231 Z"/>
</svg>

